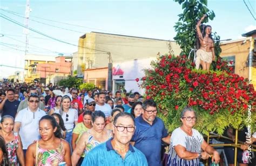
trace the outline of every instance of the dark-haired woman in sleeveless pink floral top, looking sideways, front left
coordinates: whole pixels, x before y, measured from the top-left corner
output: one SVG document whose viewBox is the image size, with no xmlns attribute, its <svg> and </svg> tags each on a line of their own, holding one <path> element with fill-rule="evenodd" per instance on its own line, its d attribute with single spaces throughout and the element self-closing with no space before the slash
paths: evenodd
<svg viewBox="0 0 256 166">
<path fill-rule="evenodd" d="M 26 165 L 58 165 L 65 162 L 71 165 L 69 143 L 59 139 L 59 128 L 54 117 L 45 115 L 39 121 L 39 141 L 30 144 L 26 151 Z"/>
</svg>

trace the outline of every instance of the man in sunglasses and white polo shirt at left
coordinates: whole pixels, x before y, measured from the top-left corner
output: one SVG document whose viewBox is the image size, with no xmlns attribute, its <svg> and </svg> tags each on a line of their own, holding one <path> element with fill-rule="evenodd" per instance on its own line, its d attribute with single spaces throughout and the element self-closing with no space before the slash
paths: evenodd
<svg viewBox="0 0 256 166">
<path fill-rule="evenodd" d="M 40 139 L 38 132 L 39 120 L 46 115 L 44 110 L 38 108 L 40 101 L 38 95 L 30 95 L 27 101 L 28 108 L 24 108 L 17 113 L 14 123 L 14 132 L 21 136 L 24 155 L 28 146 Z"/>
</svg>

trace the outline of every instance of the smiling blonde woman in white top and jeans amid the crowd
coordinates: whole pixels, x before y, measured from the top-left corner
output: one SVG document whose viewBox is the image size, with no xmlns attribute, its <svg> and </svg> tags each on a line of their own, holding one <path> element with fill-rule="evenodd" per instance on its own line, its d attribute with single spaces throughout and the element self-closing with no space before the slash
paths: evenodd
<svg viewBox="0 0 256 166">
<path fill-rule="evenodd" d="M 76 109 L 71 108 L 71 99 L 68 95 L 62 97 L 60 109 L 55 110 L 54 113 L 58 113 L 62 116 L 66 128 L 65 140 L 68 141 L 71 146 L 72 132 L 74 124 L 76 125 L 78 121 L 78 112 Z"/>
</svg>

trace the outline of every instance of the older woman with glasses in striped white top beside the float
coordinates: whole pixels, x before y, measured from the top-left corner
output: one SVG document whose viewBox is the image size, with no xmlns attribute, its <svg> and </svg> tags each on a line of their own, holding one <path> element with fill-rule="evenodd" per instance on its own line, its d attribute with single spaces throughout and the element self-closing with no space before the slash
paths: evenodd
<svg viewBox="0 0 256 166">
<path fill-rule="evenodd" d="M 212 155 L 212 162 L 219 163 L 220 157 L 203 136 L 194 129 L 196 125 L 196 113 L 192 108 L 186 107 L 181 112 L 182 125 L 172 132 L 169 148 L 168 166 L 196 166 L 199 160 L 207 159 Z M 203 152 L 201 152 L 203 150 Z"/>
</svg>

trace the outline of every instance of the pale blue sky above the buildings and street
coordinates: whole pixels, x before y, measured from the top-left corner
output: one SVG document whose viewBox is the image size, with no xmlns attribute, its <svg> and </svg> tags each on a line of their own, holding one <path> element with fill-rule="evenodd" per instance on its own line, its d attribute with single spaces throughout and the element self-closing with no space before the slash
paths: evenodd
<svg viewBox="0 0 256 166">
<path fill-rule="evenodd" d="M 245 0 L 246 4 L 256 16 L 256 1 Z M 0 8 L 16 12 L 17 17 L 6 11 L 0 10 L 19 23 L 24 24 L 25 0 L 1 0 Z M 174 23 L 178 20 L 178 14 L 182 12 L 181 6 L 173 1 L 40 1 L 30 0 L 30 19 L 60 26 L 67 30 L 39 24 L 30 20 L 29 26 L 49 36 L 69 43 L 78 44 L 78 38 L 84 33 L 91 31 L 124 34 L 129 36 L 171 39 L 176 35 Z M 255 20 L 248 11 L 243 0 L 208 0 L 208 8 L 215 12 L 216 17 L 208 24 L 212 25 L 221 39 L 238 39 L 241 34 L 256 29 Z M 58 22 L 81 25 L 71 26 L 50 22 L 35 17 L 57 20 Z M 0 65 L 24 67 L 25 42 L 24 28 L 0 17 L 0 42 L 17 50 L 0 45 Z M 11 38 L 15 38 L 11 39 Z M 1 43 L 0 43 L 1 44 Z M 11 45 L 10 45 L 11 44 Z M 40 34 L 29 34 L 29 53 L 49 54 L 56 56 L 57 53 L 72 53 L 77 51 L 76 46 L 66 45 L 48 39 Z M 36 47 L 35 47 L 36 46 Z M 39 49 L 43 47 L 47 50 Z M 49 51 L 50 50 L 50 51 Z M 53 51 L 53 52 L 52 52 Z M 4 59 L 4 60 L 3 60 Z M 0 66 L 0 78 L 13 74 L 18 68 Z"/>
</svg>

